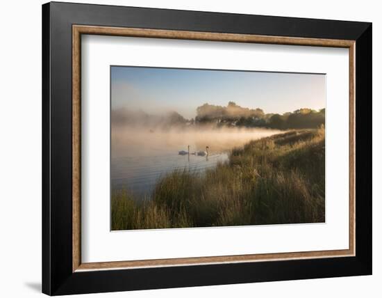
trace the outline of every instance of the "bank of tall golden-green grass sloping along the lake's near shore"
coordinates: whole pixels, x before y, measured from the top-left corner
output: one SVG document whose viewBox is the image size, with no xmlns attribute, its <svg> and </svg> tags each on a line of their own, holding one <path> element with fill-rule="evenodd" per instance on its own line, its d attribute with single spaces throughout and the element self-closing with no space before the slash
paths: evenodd
<svg viewBox="0 0 382 298">
<path fill-rule="evenodd" d="M 251 141 L 203 174 L 169 173 L 140 203 L 113 192 L 112 229 L 322 222 L 324 203 L 324 128 L 299 130 Z"/>
</svg>

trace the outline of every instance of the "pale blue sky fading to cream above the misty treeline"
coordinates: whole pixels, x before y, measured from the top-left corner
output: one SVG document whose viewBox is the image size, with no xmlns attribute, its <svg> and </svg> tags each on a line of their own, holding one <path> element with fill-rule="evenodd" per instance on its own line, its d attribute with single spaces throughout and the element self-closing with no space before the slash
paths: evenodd
<svg viewBox="0 0 382 298">
<path fill-rule="evenodd" d="M 288 72 L 111 67 L 112 109 L 194 118 L 202 104 L 260 108 L 285 113 L 325 107 L 325 75 Z"/>
</svg>

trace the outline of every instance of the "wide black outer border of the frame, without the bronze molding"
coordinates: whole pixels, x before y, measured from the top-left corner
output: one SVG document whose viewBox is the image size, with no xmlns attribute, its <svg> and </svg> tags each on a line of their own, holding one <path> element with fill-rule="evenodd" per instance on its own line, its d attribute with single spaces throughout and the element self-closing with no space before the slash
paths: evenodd
<svg viewBox="0 0 382 298">
<path fill-rule="evenodd" d="M 72 272 L 72 24 L 356 40 L 356 256 Z M 372 274 L 372 24 L 51 2 L 42 6 L 42 292 Z"/>
</svg>

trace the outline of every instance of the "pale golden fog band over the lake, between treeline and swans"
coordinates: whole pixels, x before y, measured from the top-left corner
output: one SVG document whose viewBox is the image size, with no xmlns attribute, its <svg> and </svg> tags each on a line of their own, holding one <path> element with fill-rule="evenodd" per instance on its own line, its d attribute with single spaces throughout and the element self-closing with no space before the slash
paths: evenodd
<svg viewBox="0 0 382 298">
<path fill-rule="evenodd" d="M 226 152 L 244 146 L 249 141 L 260 139 L 280 130 L 244 127 L 190 126 L 171 127 L 163 130 L 147 126 L 114 126 L 111 132 L 111 155 L 137 157 L 178 154 L 179 150 L 190 152 L 210 148 L 210 154 Z"/>
</svg>

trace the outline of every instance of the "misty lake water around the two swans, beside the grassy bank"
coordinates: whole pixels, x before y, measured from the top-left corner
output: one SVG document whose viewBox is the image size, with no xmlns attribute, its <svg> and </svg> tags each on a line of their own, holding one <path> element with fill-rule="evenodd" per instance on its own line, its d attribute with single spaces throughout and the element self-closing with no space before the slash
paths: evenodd
<svg viewBox="0 0 382 298">
<path fill-rule="evenodd" d="M 219 130 L 112 130 L 111 186 L 113 191 L 127 189 L 136 198 L 149 197 L 158 180 L 174 170 L 203 173 L 229 159 L 233 148 L 251 140 L 279 133 L 267 129 Z M 188 150 L 190 155 L 178 155 Z M 210 148 L 208 156 L 192 153 Z"/>
</svg>

